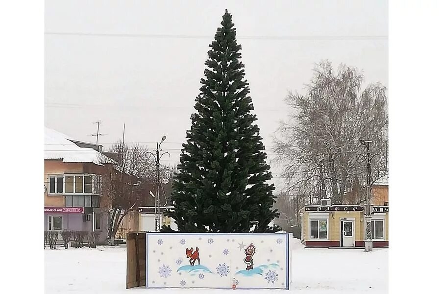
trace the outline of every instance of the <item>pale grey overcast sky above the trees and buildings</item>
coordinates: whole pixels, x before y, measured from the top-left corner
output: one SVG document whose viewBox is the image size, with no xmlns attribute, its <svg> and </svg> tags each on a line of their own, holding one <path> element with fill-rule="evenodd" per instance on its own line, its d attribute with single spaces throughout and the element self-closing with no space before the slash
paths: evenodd
<svg viewBox="0 0 441 294">
<path fill-rule="evenodd" d="M 101 120 L 99 143 L 109 147 L 125 123 L 127 142 L 166 135 L 162 147 L 172 158 L 164 163 L 176 162 L 225 8 L 267 149 L 288 114 L 283 99 L 302 92 L 314 63 L 345 63 L 363 70 L 367 83 L 388 86 L 384 0 L 46 0 L 46 126 L 95 142 L 93 122 Z"/>
</svg>

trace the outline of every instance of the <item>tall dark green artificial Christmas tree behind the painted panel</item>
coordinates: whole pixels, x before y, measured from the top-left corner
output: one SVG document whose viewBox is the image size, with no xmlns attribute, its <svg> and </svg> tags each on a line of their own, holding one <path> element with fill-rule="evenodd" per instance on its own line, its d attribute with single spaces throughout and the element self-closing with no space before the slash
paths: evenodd
<svg viewBox="0 0 441 294">
<path fill-rule="evenodd" d="M 267 154 L 251 114 L 241 45 L 225 10 L 210 45 L 187 143 L 173 181 L 180 232 L 275 232 L 275 197 Z M 170 230 L 170 227 L 168 228 Z M 166 230 L 166 228 L 165 228 Z"/>
</svg>

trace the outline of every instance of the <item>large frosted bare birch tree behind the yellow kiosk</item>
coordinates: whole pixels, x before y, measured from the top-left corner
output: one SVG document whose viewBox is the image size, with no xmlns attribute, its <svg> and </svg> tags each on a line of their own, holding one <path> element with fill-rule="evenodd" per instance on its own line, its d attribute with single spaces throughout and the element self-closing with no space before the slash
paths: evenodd
<svg viewBox="0 0 441 294">
<path fill-rule="evenodd" d="M 306 94 L 290 93 L 285 99 L 289 119 L 280 123 L 274 143 L 288 191 L 294 195 L 311 203 L 331 197 L 339 204 L 351 192 L 361 203 L 363 193 L 353 189 L 366 185 L 362 139 L 372 141 L 373 179 L 387 173 L 387 89 L 377 83 L 361 90 L 363 81 L 354 68 L 342 65 L 335 73 L 330 62 L 322 61 Z"/>
</svg>

